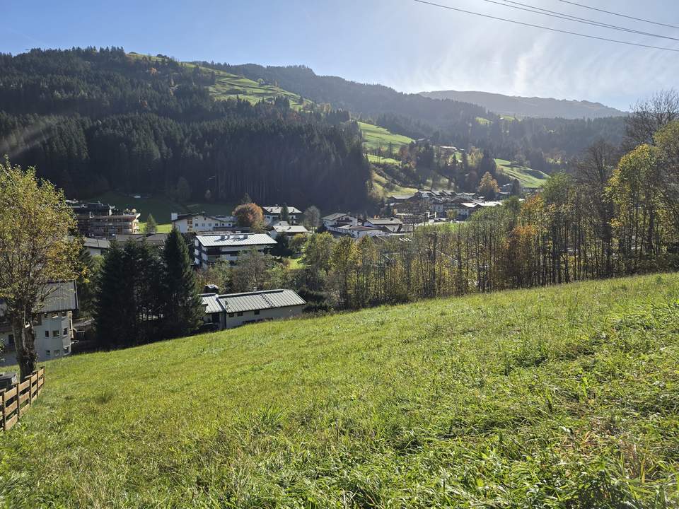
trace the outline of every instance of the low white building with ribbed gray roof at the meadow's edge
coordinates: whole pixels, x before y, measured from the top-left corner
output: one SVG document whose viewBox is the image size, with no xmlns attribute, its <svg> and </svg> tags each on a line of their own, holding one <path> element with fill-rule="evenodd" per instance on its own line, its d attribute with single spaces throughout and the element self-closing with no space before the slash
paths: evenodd
<svg viewBox="0 0 679 509">
<path fill-rule="evenodd" d="M 218 295 L 203 293 L 205 324 L 214 324 L 216 329 L 231 329 L 277 318 L 299 315 L 306 300 L 292 290 L 265 290 L 250 293 Z"/>
</svg>

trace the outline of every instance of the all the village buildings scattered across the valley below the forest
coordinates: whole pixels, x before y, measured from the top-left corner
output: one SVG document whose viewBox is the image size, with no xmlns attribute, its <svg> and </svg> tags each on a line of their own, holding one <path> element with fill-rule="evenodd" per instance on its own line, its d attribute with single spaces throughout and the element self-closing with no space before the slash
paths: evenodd
<svg viewBox="0 0 679 509">
<path fill-rule="evenodd" d="M 502 194 L 509 195 L 509 192 Z M 500 203 L 472 193 L 420 189 L 412 194 L 387 197 L 385 213 L 380 216 L 361 217 L 342 211 L 309 221 L 296 206 L 273 205 L 261 207 L 264 224 L 256 228 L 257 231 L 241 225 L 238 217 L 231 214 L 171 213 L 170 222 L 187 241 L 193 267 L 200 272 L 219 263 L 235 267 L 246 254 L 268 254 L 280 242 L 285 241 L 287 245 L 291 238 L 297 238 L 295 245 L 302 247 L 304 238 L 312 233 L 327 232 L 336 240 L 350 238 L 356 242 L 365 237 L 378 241 L 408 238 L 416 228 L 463 222 L 475 211 Z M 101 201 L 71 200 L 67 204 L 74 213 L 78 229 L 71 240 L 78 238 L 92 257 L 104 257 L 112 242 L 144 242 L 161 250 L 168 238 L 168 233 L 142 232 L 139 226 L 141 211 L 136 209 L 120 210 Z M 292 254 L 299 257 L 302 253 Z M 40 361 L 79 351 L 79 344 L 88 342 L 86 338 L 93 335 L 95 327 L 91 317 L 76 318 L 80 313 L 75 281 L 58 282 L 53 286 L 35 323 L 36 351 Z M 203 328 L 206 330 L 293 317 L 301 314 L 308 304 L 291 288 L 252 288 L 250 292 L 240 293 L 219 293 L 219 290 L 214 285 L 202 288 Z M 0 304 L 0 320 L 1 316 Z M 0 322 L 0 343 L 4 345 L 0 365 L 15 364 L 13 331 L 6 320 Z"/>
</svg>

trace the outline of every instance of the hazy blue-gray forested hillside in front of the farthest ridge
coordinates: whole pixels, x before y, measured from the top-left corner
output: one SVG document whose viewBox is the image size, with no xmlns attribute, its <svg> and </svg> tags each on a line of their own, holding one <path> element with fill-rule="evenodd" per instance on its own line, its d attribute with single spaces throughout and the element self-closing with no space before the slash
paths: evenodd
<svg viewBox="0 0 679 509">
<path fill-rule="evenodd" d="M 411 138 L 426 137 L 436 144 L 490 149 L 504 159 L 526 158 L 531 168 L 547 169 L 548 160 L 576 156 L 603 138 L 619 145 L 625 134 L 623 117 L 600 119 L 501 118 L 483 107 L 455 100 L 399 93 L 381 85 L 318 76 L 305 66 L 214 64 L 214 69 L 242 74 L 281 86 L 317 103 L 330 103 Z"/>
</svg>

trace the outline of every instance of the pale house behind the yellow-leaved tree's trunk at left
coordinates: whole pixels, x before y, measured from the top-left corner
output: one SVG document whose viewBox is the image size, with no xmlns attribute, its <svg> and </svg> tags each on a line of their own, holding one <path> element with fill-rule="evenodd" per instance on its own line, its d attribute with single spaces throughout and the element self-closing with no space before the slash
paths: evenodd
<svg viewBox="0 0 679 509">
<path fill-rule="evenodd" d="M 78 293 L 75 281 L 63 281 L 47 285 L 50 292 L 45 305 L 33 324 L 35 351 L 38 361 L 49 361 L 71 355 L 73 342 L 73 312 L 78 309 Z M 6 306 L 0 303 L 0 365 L 16 364 L 14 332 L 4 317 Z"/>
</svg>

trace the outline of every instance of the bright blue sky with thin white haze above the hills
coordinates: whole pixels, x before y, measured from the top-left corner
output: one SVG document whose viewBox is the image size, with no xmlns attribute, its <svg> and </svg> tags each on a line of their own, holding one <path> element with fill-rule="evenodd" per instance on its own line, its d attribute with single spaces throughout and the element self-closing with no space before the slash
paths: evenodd
<svg viewBox="0 0 679 509">
<path fill-rule="evenodd" d="M 679 41 L 517 11 L 484 0 L 431 0 L 524 23 L 679 49 Z M 499 4 L 506 0 L 496 0 Z M 640 23 L 561 0 L 517 0 L 648 33 Z M 575 0 L 679 26 L 677 0 Z M 679 52 L 553 33 L 413 0 L 0 0 L 0 52 L 122 46 L 230 64 L 303 64 L 316 74 L 402 92 L 483 90 L 592 100 L 629 110 L 678 86 Z"/>
</svg>

